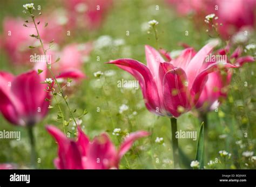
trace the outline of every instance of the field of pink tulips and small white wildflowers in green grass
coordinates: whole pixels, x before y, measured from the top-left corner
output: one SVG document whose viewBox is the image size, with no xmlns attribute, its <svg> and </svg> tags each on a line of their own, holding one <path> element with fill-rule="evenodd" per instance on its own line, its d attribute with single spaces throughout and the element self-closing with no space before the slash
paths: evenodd
<svg viewBox="0 0 256 187">
<path fill-rule="evenodd" d="M 255 0 L 0 5 L 0 169 L 256 168 Z"/>
</svg>

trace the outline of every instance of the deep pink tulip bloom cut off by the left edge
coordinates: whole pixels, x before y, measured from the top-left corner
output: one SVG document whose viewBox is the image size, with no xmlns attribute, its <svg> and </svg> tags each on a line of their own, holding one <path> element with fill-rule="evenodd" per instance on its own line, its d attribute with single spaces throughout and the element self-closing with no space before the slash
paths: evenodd
<svg viewBox="0 0 256 187">
<path fill-rule="evenodd" d="M 14 76 L 0 71 L 0 111 L 10 123 L 32 126 L 38 123 L 48 112 L 49 92 L 44 91 L 45 73 L 36 70 Z"/>
</svg>

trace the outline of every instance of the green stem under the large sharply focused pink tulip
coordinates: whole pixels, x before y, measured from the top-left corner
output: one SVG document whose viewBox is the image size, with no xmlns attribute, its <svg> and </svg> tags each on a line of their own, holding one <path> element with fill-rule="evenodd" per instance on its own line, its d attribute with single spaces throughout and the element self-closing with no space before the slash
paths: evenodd
<svg viewBox="0 0 256 187">
<path fill-rule="evenodd" d="M 172 153 L 173 153 L 173 163 L 174 168 L 179 166 L 179 150 L 178 150 L 178 139 L 175 137 L 177 132 L 177 119 L 171 118 L 171 128 L 172 128 Z"/>
</svg>

